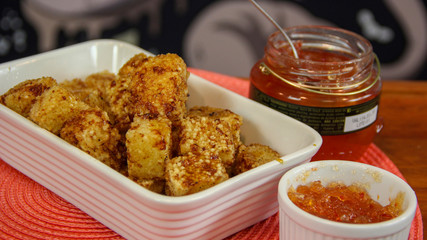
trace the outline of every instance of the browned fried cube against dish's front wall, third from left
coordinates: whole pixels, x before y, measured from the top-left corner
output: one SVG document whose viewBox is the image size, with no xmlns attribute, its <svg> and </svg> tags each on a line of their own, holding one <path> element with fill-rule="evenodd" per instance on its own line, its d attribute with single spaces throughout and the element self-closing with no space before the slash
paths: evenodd
<svg viewBox="0 0 427 240">
<path fill-rule="evenodd" d="M 107 166 L 120 170 L 122 159 L 118 144 L 121 136 L 101 109 L 80 111 L 64 124 L 59 136 Z"/>
</svg>

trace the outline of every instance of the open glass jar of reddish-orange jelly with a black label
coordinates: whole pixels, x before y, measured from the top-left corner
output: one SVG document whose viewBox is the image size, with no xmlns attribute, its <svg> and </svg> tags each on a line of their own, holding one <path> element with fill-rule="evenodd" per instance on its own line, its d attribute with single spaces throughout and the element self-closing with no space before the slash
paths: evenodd
<svg viewBox="0 0 427 240">
<path fill-rule="evenodd" d="M 250 98 L 306 123 L 323 144 L 313 160 L 358 160 L 381 130 L 380 65 L 369 41 L 343 29 L 299 26 L 280 32 L 250 73 Z"/>
</svg>

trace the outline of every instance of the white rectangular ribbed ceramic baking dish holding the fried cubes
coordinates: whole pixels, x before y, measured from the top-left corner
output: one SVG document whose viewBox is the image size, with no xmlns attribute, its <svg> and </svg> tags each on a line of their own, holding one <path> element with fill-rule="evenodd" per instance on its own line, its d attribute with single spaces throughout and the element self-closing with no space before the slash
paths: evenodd
<svg viewBox="0 0 427 240">
<path fill-rule="evenodd" d="M 117 73 L 143 49 L 94 40 L 0 64 L 0 94 L 41 76 L 57 81 Z M 312 128 L 198 76 L 188 106 L 228 108 L 243 119 L 242 140 L 276 149 L 273 161 L 208 190 L 183 197 L 150 192 L 59 137 L 0 105 L 0 157 L 127 239 L 221 239 L 278 211 L 277 185 L 322 144 Z"/>
</svg>

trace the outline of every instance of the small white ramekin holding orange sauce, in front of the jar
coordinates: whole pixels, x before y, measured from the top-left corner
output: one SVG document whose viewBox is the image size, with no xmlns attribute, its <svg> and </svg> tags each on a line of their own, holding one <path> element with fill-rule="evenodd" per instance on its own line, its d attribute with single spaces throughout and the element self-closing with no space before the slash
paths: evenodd
<svg viewBox="0 0 427 240">
<path fill-rule="evenodd" d="M 371 198 L 382 205 L 403 192 L 403 212 L 394 219 L 370 224 L 340 223 L 314 216 L 297 207 L 287 193 L 290 187 L 296 189 L 317 180 L 322 184 L 363 184 Z M 414 191 L 398 176 L 368 164 L 339 160 L 310 162 L 289 170 L 279 182 L 278 200 L 281 240 L 408 239 L 417 206 Z"/>
</svg>

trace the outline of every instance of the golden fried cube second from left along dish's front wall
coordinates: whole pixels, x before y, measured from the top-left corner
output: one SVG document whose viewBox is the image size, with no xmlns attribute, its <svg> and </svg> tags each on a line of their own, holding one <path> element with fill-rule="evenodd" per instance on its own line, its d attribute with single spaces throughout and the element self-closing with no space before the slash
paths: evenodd
<svg viewBox="0 0 427 240">
<path fill-rule="evenodd" d="M 29 118 L 40 127 L 57 135 L 66 121 L 89 108 L 89 105 L 77 99 L 68 90 L 56 85 L 36 99 Z"/>
</svg>

